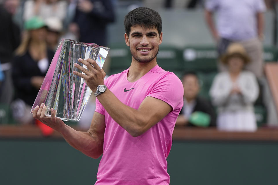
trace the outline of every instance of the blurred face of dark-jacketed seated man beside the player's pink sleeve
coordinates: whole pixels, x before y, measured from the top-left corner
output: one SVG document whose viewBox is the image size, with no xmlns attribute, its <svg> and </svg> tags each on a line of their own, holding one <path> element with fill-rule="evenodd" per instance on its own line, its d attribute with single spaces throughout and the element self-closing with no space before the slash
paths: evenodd
<svg viewBox="0 0 278 185">
<path fill-rule="evenodd" d="M 184 97 L 187 99 L 195 99 L 199 93 L 200 86 L 195 75 L 186 75 L 182 79 L 184 88 Z"/>
</svg>

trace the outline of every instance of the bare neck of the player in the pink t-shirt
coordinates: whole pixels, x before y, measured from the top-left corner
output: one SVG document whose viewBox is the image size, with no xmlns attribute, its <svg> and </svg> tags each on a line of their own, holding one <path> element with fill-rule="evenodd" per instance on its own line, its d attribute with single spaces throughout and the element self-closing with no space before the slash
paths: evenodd
<svg viewBox="0 0 278 185">
<path fill-rule="evenodd" d="M 142 76 L 147 74 L 151 69 L 153 69 L 153 67 L 156 65 L 156 58 L 154 58 L 151 62 L 146 63 L 138 62 L 134 58 L 132 58 L 132 62 L 127 74 L 127 80 L 129 82 L 137 81 Z"/>
</svg>

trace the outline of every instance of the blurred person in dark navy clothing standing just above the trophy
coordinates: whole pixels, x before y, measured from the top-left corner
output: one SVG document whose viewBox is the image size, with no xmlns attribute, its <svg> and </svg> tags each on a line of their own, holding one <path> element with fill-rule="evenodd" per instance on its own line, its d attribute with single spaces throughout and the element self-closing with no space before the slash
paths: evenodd
<svg viewBox="0 0 278 185">
<path fill-rule="evenodd" d="M 81 42 L 107 46 L 106 26 L 114 20 L 114 7 L 110 0 L 79 0 L 69 31 L 78 35 Z"/>
</svg>

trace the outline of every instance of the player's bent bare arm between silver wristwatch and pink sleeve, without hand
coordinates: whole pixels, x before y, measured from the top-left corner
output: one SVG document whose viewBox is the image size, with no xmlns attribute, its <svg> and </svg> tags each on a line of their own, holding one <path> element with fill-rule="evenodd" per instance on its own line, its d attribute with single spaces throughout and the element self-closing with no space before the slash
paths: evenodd
<svg viewBox="0 0 278 185">
<path fill-rule="evenodd" d="M 146 97 L 136 110 L 118 100 L 109 89 L 98 95 L 98 101 L 108 114 L 133 137 L 145 133 L 172 110 L 168 103 L 154 97 Z"/>
</svg>

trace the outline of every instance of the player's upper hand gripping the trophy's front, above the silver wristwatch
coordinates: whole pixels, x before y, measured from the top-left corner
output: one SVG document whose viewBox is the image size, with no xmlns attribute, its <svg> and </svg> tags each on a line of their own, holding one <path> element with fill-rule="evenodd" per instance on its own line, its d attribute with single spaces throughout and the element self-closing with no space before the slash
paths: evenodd
<svg viewBox="0 0 278 185">
<path fill-rule="evenodd" d="M 74 66 L 85 74 L 79 73 L 77 71 L 73 71 L 73 73 L 77 76 L 80 76 L 81 78 L 84 78 L 89 88 L 93 92 L 96 92 L 96 88 L 98 85 L 104 85 L 103 79 L 106 73 L 103 71 L 103 69 L 100 69 L 96 61 L 92 59 L 88 58 L 87 60 L 83 60 L 79 58 L 78 61 L 82 64 L 85 64 L 87 66 L 87 69 L 77 63 L 75 63 Z"/>
</svg>

